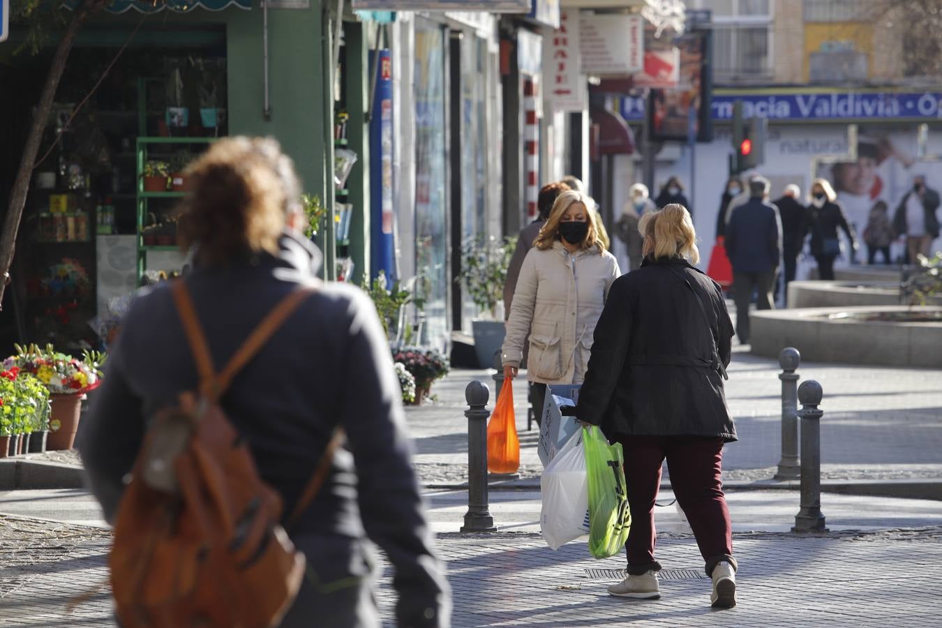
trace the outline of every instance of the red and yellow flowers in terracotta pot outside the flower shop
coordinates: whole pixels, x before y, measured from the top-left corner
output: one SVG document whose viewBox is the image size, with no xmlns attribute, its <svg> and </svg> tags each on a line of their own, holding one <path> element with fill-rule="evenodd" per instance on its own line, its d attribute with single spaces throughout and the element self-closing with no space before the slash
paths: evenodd
<svg viewBox="0 0 942 628">
<path fill-rule="evenodd" d="M 82 360 L 59 353 L 52 345 L 41 349 L 36 345 L 27 347 L 14 345 L 15 356 L 4 361 L 5 369 L 14 367 L 35 375 L 51 396 L 49 421 L 49 449 L 72 449 L 81 412 L 82 399 L 89 391 L 101 384 L 99 370 L 106 355 L 97 351 L 86 351 Z"/>
</svg>

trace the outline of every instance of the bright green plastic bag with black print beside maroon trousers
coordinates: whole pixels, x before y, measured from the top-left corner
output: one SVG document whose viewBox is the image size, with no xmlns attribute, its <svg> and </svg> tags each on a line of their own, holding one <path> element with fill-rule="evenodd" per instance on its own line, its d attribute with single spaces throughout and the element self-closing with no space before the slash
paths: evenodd
<svg viewBox="0 0 942 628">
<path fill-rule="evenodd" d="M 589 476 L 589 552 L 596 558 L 615 556 L 631 529 L 625 490 L 622 443 L 609 444 L 598 426 L 583 427 L 582 446 Z"/>
</svg>

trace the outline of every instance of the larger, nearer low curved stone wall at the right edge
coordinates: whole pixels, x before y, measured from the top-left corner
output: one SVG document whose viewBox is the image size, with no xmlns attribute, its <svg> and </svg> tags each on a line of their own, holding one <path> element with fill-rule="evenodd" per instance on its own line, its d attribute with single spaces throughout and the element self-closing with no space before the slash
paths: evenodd
<svg viewBox="0 0 942 628">
<path fill-rule="evenodd" d="M 750 314 L 752 352 L 778 357 L 794 346 L 802 360 L 882 366 L 942 368 L 942 322 L 897 323 L 831 319 L 829 314 L 938 312 L 942 307 L 802 308 Z"/>
</svg>

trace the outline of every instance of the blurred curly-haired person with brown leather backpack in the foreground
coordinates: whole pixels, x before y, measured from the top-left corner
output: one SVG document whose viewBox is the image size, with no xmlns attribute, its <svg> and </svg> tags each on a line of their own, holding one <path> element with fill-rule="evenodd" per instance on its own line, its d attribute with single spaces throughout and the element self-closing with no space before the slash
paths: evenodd
<svg viewBox="0 0 942 628">
<path fill-rule="evenodd" d="M 231 137 L 190 174 L 192 270 L 135 299 L 79 443 L 122 626 L 380 626 L 367 539 L 398 624 L 449 625 L 376 309 L 317 280 L 291 160 Z"/>
</svg>

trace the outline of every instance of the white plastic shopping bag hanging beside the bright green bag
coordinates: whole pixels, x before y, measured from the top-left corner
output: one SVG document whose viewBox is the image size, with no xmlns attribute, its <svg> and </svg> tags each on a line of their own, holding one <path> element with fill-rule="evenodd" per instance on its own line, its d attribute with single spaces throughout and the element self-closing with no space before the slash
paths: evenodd
<svg viewBox="0 0 942 628">
<path fill-rule="evenodd" d="M 540 529 L 547 545 L 558 550 L 564 543 L 589 534 L 589 479 L 581 429 L 546 467 L 540 491 Z"/>
</svg>

